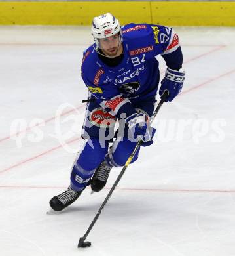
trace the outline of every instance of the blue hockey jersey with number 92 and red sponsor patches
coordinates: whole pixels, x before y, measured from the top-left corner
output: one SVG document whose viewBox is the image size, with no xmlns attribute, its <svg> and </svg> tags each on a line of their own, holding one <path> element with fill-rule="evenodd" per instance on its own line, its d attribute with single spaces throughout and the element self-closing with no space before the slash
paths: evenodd
<svg viewBox="0 0 235 256">
<path fill-rule="evenodd" d="M 82 60 L 82 79 L 105 110 L 116 115 L 126 104 L 156 96 L 159 82 L 155 56 L 179 48 L 172 28 L 151 24 L 122 26 L 124 57 L 115 67 L 107 66 L 91 45 Z"/>
</svg>

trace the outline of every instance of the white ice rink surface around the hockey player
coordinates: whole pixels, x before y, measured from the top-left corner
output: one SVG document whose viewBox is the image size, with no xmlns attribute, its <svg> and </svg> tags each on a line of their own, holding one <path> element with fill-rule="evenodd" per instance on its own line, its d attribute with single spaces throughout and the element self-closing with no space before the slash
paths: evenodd
<svg viewBox="0 0 235 256">
<path fill-rule="evenodd" d="M 235 29 L 175 30 L 183 92 L 162 106 L 155 143 L 128 167 L 88 236 L 92 247 L 77 249 L 120 172 L 105 190 L 46 214 L 81 144 L 90 30 L 0 27 L 1 255 L 235 255 Z"/>
</svg>

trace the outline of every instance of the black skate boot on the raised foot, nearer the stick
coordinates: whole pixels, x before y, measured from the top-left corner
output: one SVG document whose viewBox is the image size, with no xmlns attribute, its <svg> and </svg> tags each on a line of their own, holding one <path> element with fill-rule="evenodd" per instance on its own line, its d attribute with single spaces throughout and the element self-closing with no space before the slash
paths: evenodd
<svg viewBox="0 0 235 256">
<path fill-rule="evenodd" d="M 90 181 L 90 187 L 93 191 L 99 192 L 101 189 L 103 189 L 107 182 L 111 169 L 112 167 L 107 165 L 106 161 L 103 161 L 99 165 Z"/>
</svg>

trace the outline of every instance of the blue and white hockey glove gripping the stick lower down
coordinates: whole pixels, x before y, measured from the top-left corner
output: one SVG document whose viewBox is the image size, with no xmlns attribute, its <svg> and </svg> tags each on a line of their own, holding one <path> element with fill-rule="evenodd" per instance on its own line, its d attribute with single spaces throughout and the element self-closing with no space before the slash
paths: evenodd
<svg viewBox="0 0 235 256">
<path fill-rule="evenodd" d="M 126 123 L 132 133 L 132 137 L 137 140 L 142 140 L 141 146 L 150 146 L 153 144 L 153 135 L 156 131 L 148 123 L 148 117 L 143 114 L 132 114 L 126 119 Z"/>
</svg>

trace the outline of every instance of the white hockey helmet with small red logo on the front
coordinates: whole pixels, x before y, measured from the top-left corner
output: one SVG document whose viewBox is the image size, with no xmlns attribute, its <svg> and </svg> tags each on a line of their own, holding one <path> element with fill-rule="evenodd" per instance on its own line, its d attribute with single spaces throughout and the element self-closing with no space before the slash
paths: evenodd
<svg viewBox="0 0 235 256">
<path fill-rule="evenodd" d="M 106 13 L 98 17 L 94 17 L 92 20 L 92 35 L 96 45 L 98 45 L 98 39 L 111 37 L 118 32 L 121 33 L 122 37 L 120 23 L 118 19 L 115 18 L 115 16 L 113 16 L 111 13 Z"/>
</svg>

